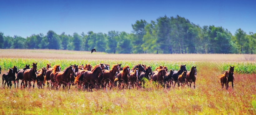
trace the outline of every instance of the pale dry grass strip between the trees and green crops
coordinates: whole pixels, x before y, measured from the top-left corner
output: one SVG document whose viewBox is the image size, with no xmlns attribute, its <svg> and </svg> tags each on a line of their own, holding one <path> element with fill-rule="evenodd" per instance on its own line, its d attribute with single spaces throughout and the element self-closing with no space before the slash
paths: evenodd
<svg viewBox="0 0 256 115">
<path fill-rule="evenodd" d="M 45 50 L 45 49 L 0 49 L 0 58 L 33 59 L 84 59 L 84 60 L 143 60 L 143 61 L 255 61 L 254 54 L 106 54 L 100 52 Z"/>
</svg>

